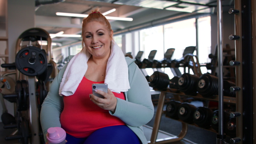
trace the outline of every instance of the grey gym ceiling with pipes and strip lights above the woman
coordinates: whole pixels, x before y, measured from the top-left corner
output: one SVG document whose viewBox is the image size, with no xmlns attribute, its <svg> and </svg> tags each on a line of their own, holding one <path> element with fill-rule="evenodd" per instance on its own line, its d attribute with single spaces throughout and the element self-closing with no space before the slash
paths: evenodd
<svg viewBox="0 0 256 144">
<path fill-rule="evenodd" d="M 222 0 L 222 3 L 230 6 L 233 0 Z M 81 17 L 57 16 L 56 12 L 88 14 L 99 7 L 102 13 L 116 9 L 106 16 L 133 18 L 133 21 L 109 20 L 115 34 L 165 17 L 214 12 L 217 0 L 35 0 L 35 5 L 35 27 L 50 34 L 61 31 L 64 34 L 81 34 Z M 81 37 L 55 37 L 52 41 L 64 46 L 81 41 Z"/>
</svg>

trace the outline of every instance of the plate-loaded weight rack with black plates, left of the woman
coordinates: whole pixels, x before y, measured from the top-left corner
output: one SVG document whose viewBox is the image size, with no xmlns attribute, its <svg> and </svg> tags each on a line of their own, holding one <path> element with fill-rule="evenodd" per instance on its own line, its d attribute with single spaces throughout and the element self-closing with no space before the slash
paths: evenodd
<svg viewBox="0 0 256 144">
<path fill-rule="evenodd" d="M 43 43 L 47 43 L 45 46 Z M 49 91 L 49 85 L 58 73 L 52 60 L 52 40 L 44 29 L 32 28 L 23 32 L 16 43 L 15 63 L 1 66 L 16 69 L 15 92 L 3 98 L 15 103 L 16 124 L 4 128 L 17 129 L 6 140 L 18 139 L 21 144 L 44 144 L 40 124 L 41 104 Z"/>
</svg>

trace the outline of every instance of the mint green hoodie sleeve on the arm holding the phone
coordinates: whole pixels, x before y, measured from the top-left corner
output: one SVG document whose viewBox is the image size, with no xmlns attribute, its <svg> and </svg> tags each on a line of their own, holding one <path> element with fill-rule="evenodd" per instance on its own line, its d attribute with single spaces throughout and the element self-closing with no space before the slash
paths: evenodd
<svg viewBox="0 0 256 144">
<path fill-rule="evenodd" d="M 116 111 L 110 113 L 130 126 L 139 127 L 153 118 L 154 106 L 148 81 L 143 73 L 135 63 L 131 63 L 128 68 L 131 89 L 127 92 L 127 101 L 117 98 Z"/>
</svg>

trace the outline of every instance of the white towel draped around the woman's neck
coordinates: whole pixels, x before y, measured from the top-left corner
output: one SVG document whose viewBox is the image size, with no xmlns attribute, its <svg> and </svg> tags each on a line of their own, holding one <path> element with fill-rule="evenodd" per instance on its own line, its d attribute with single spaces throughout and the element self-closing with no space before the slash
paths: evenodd
<svg viewBox="0 0 256 144">
<path fill-rule="evenodd" d="M 128 65 L 122 50 L 113 42 L 111 54 L 108 58 L 105 84 L 112 92 L 126 92 L 130 89 L 128 80 Z M 85 72 L 87 71 L 87 61 L 91 54 L 84 48 L 76 54 L 67 64 L 59 88 L 59 95 L 73 95 L 76 92 Z"/>
</svg>

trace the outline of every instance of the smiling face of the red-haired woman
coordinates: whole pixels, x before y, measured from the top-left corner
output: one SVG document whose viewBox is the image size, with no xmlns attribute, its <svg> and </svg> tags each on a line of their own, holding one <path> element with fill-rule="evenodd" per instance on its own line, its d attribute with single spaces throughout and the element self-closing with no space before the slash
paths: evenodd
<svg viewBox="0 0 256 144">
<path fill-rule="evenodd" d="M 84 26 L 84 47 L 94 58 L 109 57 L 113 31 L 97 21 L 92 21 Z"/>
</svg>

